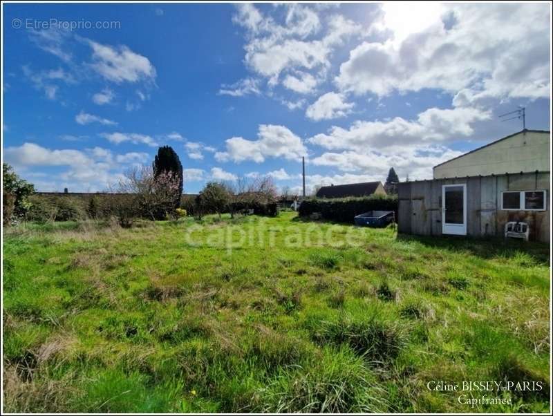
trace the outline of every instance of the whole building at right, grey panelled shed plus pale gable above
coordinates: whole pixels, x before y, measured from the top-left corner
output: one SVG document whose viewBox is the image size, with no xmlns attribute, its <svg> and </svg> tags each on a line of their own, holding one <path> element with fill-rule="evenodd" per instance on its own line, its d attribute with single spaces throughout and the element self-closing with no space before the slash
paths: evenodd
<svg viewBox="0 0 553 416">
<path fill-rule="evenodd" d="M 400 182 L 398 231 L 504 236 L 527 223 L 529 239 L 550 242 L 550 131 L 523 130 L 433 168 L 433 179 Z"/>
</svg>

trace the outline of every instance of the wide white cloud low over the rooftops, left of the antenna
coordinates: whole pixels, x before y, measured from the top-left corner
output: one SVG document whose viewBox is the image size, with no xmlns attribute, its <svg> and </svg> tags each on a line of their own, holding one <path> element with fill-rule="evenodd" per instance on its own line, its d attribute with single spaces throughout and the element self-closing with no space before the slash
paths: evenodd
<svg viewBox="0 0 553 416">
<path fill-rule="evenodd" d="M 432 167 L 462 154 L 448 142 L 469 137 L 473 124 L 489 120 L 491 113 L 476 108 L 429 108 L 416 120 L 357 121 L 348 129 L 333 126 L 308 142 L 329 149 L 310 160 L 316 166 L 379 176 L 384 180 L 390 167 L 402 176 L 432 178 Z"/>
</svg>

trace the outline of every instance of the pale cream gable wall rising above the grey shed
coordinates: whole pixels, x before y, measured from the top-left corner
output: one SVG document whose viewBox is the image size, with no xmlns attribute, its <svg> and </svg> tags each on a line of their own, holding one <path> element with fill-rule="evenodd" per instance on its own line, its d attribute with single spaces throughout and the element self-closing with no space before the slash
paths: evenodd
<svg viewBox="0 0 553 416">
<path fill-rule="evenodd" d="M 434 179 L 550 170 L 550 133 L 522 131 L 434 167 Z"/>
</svg>

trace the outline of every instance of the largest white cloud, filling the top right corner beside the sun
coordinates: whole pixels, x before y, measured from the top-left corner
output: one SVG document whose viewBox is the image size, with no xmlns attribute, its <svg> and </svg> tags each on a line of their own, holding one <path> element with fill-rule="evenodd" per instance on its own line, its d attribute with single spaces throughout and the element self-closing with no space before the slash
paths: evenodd
<svg viewBox="0 0 553 416">
<path fill-rule="evenodd" d="M 549 6 L 432 7 L 425 19 L 413 19 L 406 5 L 384 6 L 375 28 L 388 30 L 391 37 L 382 43 L 366 41 L 350 51 L 335 79 L 341 91 L 382 96 L 438 88 L 458 93 L 456 105 L 549 97 Z"/>
</svg>

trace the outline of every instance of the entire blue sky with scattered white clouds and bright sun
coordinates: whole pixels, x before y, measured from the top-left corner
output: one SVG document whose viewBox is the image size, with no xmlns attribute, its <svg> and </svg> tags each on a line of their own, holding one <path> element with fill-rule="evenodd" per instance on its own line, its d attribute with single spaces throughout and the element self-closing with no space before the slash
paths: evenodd
<svg viewBox="0 0 553 416">
<path fill-rule="evenodd" d="M 549 3 L 3 3 L 3 161 L 103 191 L 172 146 L 185 193 L 432 177 L 550 129 Z"/>
</svg>

